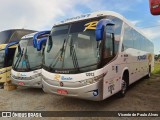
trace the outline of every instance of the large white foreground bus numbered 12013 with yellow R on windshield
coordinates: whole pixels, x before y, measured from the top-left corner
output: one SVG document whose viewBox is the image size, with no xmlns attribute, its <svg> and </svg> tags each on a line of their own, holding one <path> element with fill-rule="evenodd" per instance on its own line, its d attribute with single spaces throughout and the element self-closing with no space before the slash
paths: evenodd
<svg viewBox="0 0 160 120">
<path fill-rule="evenodd" d="M 154 46 L 122 15 L 101 11 L 55 24 L 46 43 L 44 92 L 100 101 L 125 96 L 154 69 Z"/>
</svg>

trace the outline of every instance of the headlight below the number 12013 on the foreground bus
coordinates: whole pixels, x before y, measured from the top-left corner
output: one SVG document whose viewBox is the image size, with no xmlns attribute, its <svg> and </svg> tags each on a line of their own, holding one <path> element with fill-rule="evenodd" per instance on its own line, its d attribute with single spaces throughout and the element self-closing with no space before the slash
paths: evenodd
<svg viewBox="0 0 160 120">
<path fill-rule="evenodd" d="M 93 83 L 96 83 L 96 82 L 102 80 L 103 77 L 104 77 L 104 74 L 101 74 L 101 75 L 95 76 L 95 77 L 90 78 L 90 79 L 81 80 L 79 82 L 82 83 L 83 85 L 89 85 L 89 84 L 93 84 Z"/>
</svg>

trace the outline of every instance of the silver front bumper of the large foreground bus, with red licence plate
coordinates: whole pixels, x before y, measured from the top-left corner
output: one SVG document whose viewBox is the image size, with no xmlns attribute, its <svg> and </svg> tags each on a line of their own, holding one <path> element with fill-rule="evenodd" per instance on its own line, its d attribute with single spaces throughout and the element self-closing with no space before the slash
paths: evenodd
<svg viewBox="0 0 160 120">
<path fill-rule="evenodd" d="M 100 101 L 103 100 L 102 82 L 103 81 L 99 81 L 97 83 L 93 83 L 82 87 L 70 88 L 70 87 L 54 86 L 53 84 L 47 83 L 47 81 L 45 81 L 42 78 L 42 88 L 43 91 L 46 93 L 53 93 L 57 95 L 63 95 L 63 96 L 92 100 L 92 101 Z"/>
</svg>

